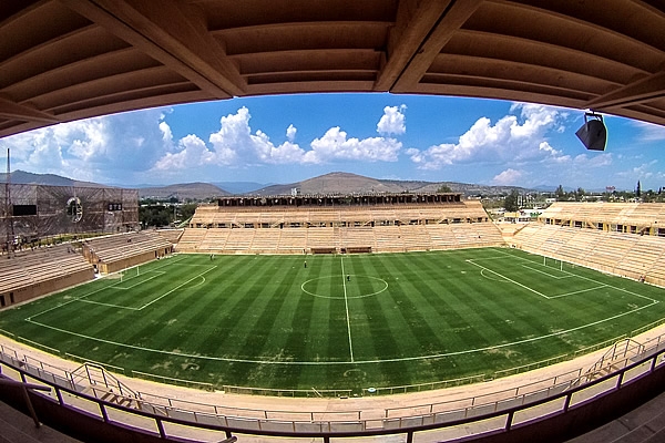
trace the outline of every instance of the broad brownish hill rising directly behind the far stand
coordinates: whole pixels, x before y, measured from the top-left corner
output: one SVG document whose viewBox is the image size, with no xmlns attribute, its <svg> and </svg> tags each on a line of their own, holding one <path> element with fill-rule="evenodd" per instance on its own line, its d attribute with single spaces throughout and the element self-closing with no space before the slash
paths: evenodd
<svg viewBox="0 0 665 443">
<path fill-rule="evenodd" d="M 434 193 L 441 186 L 448 186 L 453 193 L 464 195 L 499 195 L 510 193 L 512 189 L 529 192 L 516 186 L 485 186 L 458 182 L 419 182 L 419 181 L 391 181 L 365 177 L 350 173 L 330 173 L 303 182 L 286 185 L 273 185 L 252 192 L 252 195 L 289 195 L 291 188 L 297 187 L 300 194 L 369 194 L 369 193 Z"/>
</svg>

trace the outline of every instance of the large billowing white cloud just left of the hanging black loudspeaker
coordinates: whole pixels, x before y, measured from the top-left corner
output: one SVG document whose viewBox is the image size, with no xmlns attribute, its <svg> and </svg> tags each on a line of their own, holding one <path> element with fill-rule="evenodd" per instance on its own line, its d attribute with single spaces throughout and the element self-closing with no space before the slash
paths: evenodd
<svg viewBox="0 0 665 443">
<path fill-rule="evenodd" d="M 457 143 L 442 143 L 427 150 L 408 150 L 411 161 L 422 169 L 440 169 L 446 165 L 473 162 L 559 162 L 565 156 L 546 141 L 550 131 L 559 131 L 566 115 L 556 107 L 514 104 L 511 112 L 494 125 L 479 119 Z"/>
</svg>

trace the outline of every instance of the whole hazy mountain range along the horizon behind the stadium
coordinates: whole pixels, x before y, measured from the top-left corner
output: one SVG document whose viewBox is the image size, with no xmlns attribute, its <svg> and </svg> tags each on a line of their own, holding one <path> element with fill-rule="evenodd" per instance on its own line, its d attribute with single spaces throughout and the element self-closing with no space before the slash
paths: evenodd
<svg viewBox="0 0 665 443">
<path fill-rule="evenodd" d="M 1 182 L 6 182 L 7 174 L 0 174 Z M 39 184 L 50 186 L 95 186 L 108 185 L 80 182 L 72 178 L 53 174 L 33 174 L 24 171 L 11 173 L 12 184 Z M 139 196 L 141 198 L 172 198 L 183 199 L 208 199 L 227 195 L 290 195 L 293 188 L 298 188 L 300 194 L 370 194 L 370 193 L 436 193 L 441 186 L 448 186 L 454 193 L 470 195 L 501 195 L 512 189 L 522 193 L 533 192 L 516 186 L 485 186 L 478 184 L 458 182 L 421 182 L 421 181 L 396 181 L 365 177 L 357 174 L 334 172 L 301 182 L 278 185 L 262 185 L 252 182 L 226 182 L 226 183 L 184 183 L 167 186 L 141 185 Z"/>
</svg>

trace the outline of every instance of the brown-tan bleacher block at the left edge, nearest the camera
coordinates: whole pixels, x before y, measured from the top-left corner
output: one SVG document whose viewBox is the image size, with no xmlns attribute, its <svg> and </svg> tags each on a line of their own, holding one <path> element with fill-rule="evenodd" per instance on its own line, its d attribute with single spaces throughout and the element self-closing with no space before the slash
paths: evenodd
<svg viewBox="0 0 665 443">
<path fill-rule="evenodd" d="M 94 278 L 92 266 L 70 245 L 24 250 L 1 258 L 0 308 Z"/>
</svg>

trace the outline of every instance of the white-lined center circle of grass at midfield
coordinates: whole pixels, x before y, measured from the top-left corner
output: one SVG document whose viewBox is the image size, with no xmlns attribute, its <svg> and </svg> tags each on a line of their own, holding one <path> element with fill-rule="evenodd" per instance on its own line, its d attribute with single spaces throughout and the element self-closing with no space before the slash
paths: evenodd
<svg viewBox="0 0 665 443">
<path fill-rule="evenodd" d="M 313 297 L 344 300 L 377 296 L 388 289 L 388 281 L 356 274 L 324 276 L 306 280 L 300 289 Z"/>
</svg>

